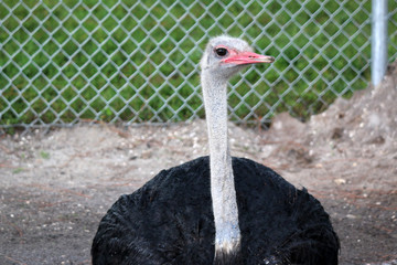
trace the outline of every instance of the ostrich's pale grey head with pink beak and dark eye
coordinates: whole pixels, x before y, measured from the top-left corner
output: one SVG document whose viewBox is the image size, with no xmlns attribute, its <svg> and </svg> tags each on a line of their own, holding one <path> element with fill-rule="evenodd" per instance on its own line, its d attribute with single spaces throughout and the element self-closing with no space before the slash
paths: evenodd
<svg viewBox="0 0 397 265">
<path fill-rule="evenodd" d="M 228 80 L 248 64 L 272 63 L 275 57 L 259 55 L 244 40 L 221 35 L 212 39 L 201 60 L 203 72 L 211 71 L 216 78 Z"/>
</svg>

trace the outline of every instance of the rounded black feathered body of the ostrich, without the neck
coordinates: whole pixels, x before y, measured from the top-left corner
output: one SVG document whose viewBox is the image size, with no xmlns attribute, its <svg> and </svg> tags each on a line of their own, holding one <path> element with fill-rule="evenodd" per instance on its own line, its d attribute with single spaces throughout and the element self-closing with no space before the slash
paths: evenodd
<svg viewBox="0 0 397 265">
<path fill-rule="evenodd" d="M 337 264 L 339 240 L 320 202 L 271 169 L 233 158 L 238 253 L 214 261 L 210 159 L 161 171 L 121 195 L 100 221 L 93 264 Z"/>
</svg>

